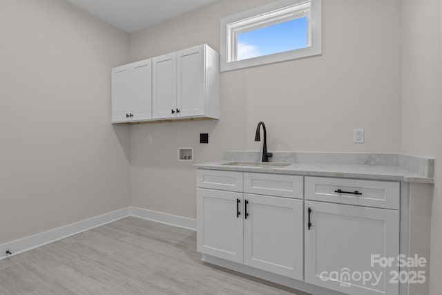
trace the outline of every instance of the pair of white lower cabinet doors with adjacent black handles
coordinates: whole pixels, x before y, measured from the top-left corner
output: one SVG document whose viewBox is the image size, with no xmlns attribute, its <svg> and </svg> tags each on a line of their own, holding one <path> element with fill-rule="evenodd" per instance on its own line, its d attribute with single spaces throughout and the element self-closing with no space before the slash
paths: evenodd
<svg viewBox="0 0 442 295">
<path fill-rule="evenodd" d="M 302 280 L 302 200 L 197 189 L 198 251 Z"/>
</svg>

